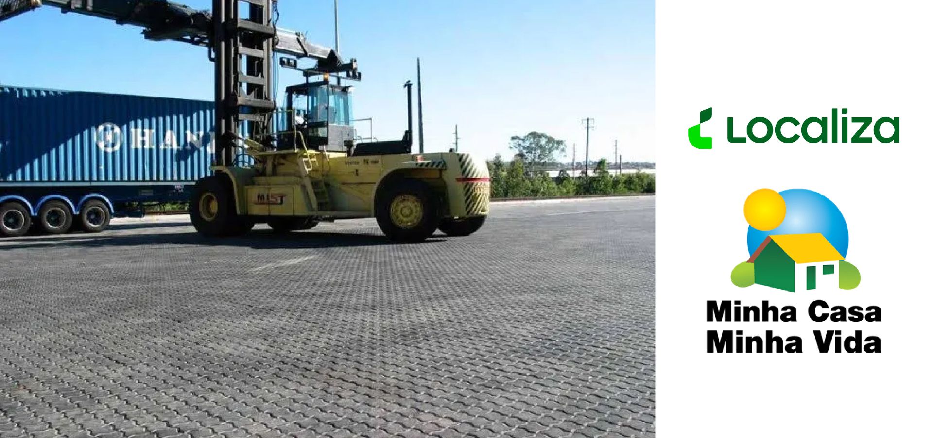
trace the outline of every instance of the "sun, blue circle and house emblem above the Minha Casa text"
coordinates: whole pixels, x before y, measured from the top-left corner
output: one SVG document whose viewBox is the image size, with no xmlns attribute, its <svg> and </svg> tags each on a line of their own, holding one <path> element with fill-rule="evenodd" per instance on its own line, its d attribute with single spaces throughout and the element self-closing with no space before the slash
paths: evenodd
<svg viewBox="0 0 933 438">
<path fill-rule="evenodd" d="M 858 269 L 845 261 L 849 228 L 836 204 L 813 190 L 762 188 L 745 199 L 749 258 L 732 283 L 806 292 L 855 289 Z"/>
</svg>

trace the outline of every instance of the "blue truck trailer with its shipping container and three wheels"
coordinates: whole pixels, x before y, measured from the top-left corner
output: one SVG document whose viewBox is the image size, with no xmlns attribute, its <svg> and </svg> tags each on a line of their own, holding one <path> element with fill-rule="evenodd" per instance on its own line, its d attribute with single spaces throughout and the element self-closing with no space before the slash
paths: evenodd
<svg viewBox="0 0 933 438">
<path fill-rule="evenodd" d="M 143 202 L 188 201 L 213 173 L 214 106 L 0 87 L 0 236 L 100 232 Z"/>
</svg>

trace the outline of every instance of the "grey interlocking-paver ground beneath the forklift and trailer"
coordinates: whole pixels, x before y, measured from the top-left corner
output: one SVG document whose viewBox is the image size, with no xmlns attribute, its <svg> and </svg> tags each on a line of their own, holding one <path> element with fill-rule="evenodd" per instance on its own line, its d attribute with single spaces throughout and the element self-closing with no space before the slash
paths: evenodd
<svg viewBox="0 0 933 438">
<path fill-rule="evenodd" d="M 653 436 L 654 199 L 493 207 L 0 240 L 0 436 Z"/>
</svg>

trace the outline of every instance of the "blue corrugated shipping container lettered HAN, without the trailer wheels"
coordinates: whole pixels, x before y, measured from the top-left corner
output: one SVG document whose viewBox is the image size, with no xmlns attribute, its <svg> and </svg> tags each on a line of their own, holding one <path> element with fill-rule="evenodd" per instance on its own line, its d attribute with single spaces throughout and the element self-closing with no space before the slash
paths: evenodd
<svg viewBox="0 0 933 438">
<path fill-rule="evenodd" d="M 214 158 L 214 103 L 0 88 L 0 186 L 192 184 Z"/>
</svg>

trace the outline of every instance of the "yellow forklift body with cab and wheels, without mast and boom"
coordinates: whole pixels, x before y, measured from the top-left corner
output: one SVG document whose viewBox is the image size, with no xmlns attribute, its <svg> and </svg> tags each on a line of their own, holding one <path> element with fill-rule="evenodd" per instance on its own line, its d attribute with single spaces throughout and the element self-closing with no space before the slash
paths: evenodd
<svg viewBox="0 0 933 438">
<path fill-rule="evenodd" d="M 411 153 L 411 84 L 402 140 L 355 143 L 351 87 L 321 76 L 285 89 L 285 109 L 274 117 L 284 130 L 241 139 L 251 160 L 236 161 L 252 164 L 216 166 L 214 176 L 195 185 L 190 214 L 199 232 L 234 236 L 257 223 L 288 232 L 375 217 L 390 239 L 420 241 L 437 229 L 466 236 L 482 226 L 489 212 L 486 163 L 468 154 Z"/>
</svg>

